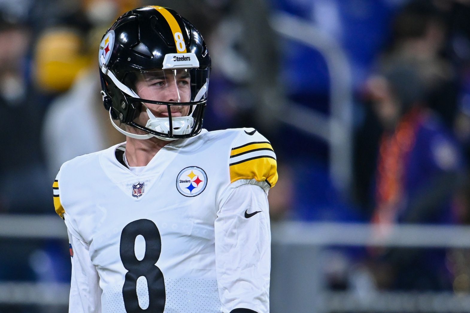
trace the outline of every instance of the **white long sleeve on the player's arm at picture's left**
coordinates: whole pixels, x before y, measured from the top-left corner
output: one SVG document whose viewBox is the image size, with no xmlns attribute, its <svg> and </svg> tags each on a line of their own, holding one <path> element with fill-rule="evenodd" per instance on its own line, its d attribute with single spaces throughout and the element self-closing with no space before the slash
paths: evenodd
<svg viewBox="0 0 470 313">
<path fill-rule="evenodd" d="M 70 313 L 101 313 L 99 276 L 91 263 L 89 246 L 70 232 L 72 276 L 69 297 Z"/>
</svg>

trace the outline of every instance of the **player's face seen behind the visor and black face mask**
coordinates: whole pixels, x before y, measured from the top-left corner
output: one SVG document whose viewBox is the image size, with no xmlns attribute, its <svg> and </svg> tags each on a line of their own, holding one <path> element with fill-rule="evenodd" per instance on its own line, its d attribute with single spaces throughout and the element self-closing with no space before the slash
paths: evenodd
<svg viewBox="0 0 470 313">
<path fill-rule="evenodd" d="M 164 102 L 189 102 L 191 101 L 191 77 L 187 70 L 164 70 L 146 72 L 138 75 L 135 89 L 142 99 Z M 168 117 L 166 105 L 145 103 L 155 117 Z M 188 105 L 172 105 L 172 117 L 186 116 L 189 112 Z M 142 105 L 138 122 L 145 125 L 149 116 Z"/>
</svg>

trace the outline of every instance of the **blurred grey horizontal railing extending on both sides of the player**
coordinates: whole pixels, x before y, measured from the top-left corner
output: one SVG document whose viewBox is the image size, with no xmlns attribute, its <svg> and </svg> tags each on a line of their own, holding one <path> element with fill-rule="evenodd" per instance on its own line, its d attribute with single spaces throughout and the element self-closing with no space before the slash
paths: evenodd
<svg viewBox="0 0 470 313">
<path fill-rule="evenodd" d="M 331 246 L 470 248 L 470 226 L 396 225 L 386 235 L 370 224 L 273 223 L 271 312 L 470 312 L 470 295 L 452 292 L 331 291 L 322 281 L 322 252 Z M 0 216 L 1 238 L 63 239 L 56 216 Z M 66 306 L 67 283 L 0 282 L 0 305 Z M 25 297 L 24 295 L 31 295 Z"/>
</svg>

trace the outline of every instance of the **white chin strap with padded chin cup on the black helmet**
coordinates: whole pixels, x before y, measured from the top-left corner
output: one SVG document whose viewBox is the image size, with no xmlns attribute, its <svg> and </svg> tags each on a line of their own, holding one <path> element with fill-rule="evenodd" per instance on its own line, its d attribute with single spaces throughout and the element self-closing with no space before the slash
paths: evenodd
<svg viewBox="0 0 470 313">
<path fill-rule="evenodd" d="M 105 75 L 107 75 L 122 92 L 124 92 L 125 94 L 129 96 L 140 98 L 139 96 L 137 96 L 135 92 L 133 92 L 132 89 L 130 89 L 129 87 L 121 83 L 116 78 L 116 76 L 114 76 L 114 74 L 108 70 L 108 68 L 104 64 L 103 56 L 101 56 L 101 63 L 102 63 L 102 67 L 101 67 L 102 72 Z M 205 95 L 205 93 L 207 92 L 208 84 L 209 84 L 209 80 L 206 80 L 204 86 L 199 90 L 196 97 L 194 98 L 195 102 L 201 100 L 201 98 Z M 104 98 L 104 95 L 103 95 L 103 98 Z M 149 120 L 147 121 L 147 124 L 145 125 L 145 127 L 155 130 L 159 133 L 169 134 L 170 133 L 170 119 L 167 117 L 155 117 L 145 104 L 142 103 L 142 105 L 145 106 L 147 114 L 149 115 Z M 137 135 L 137 134 L 133 134 L 128 131 L 125 131 L 124 129 L 116 125 L 116 123 L 114 122 L 111 116 L 111 110 L 112 108 L 110 108 L 111 124 L 114 126 L 114 128 L 116 128 L 120 133 L 124 134 L 125 136 L 129 136 L 135 139 L 149 139 L 151 137 L 157 137 L 159 139 L 166 140 L 166 141 L 176 140 L 174 138 L 167 138 L 167 137 L 157 136 L 153 134 Z M 194 126 L 194 118 L 192 117 L 194 113 L 194 105 L 191 106 L 191 111 L 192 111 L 191 114 L 188 116 L 172 117 L 172 128 L 173 128 L 172 134 L 173 135 L 187 135 L 191 132 Z"/>
</svg>

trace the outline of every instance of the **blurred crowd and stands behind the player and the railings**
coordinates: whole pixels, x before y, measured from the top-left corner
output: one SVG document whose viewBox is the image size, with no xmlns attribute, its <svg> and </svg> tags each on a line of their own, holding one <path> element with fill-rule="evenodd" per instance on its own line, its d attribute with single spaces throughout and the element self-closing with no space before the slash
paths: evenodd
<svg viewBox="0 0 470 313">
<path fill-rule="evenodd" d="M 0 1 L 0 213 L 55 214 L 50 187 L 60 165 L 125 140 L 102 107 L 98 43 L 121 13 L 155 4 L 192 21 L 210 48 L 205 128 L 255 127 L 271 140 L 274 221 L 374 223 L 376 236 L 397 223 L 470 223 L 469 0 Z M 347 56 L 346 193 L 329 174 L 329 145 L 280 119 L 293 102 L 328 116 L 332 78 L 318 50 L 274 32 L 275 12 L 311 24 Z M 9 251 L 0 281 L 70 279 L 67 247 L 18 246 L 0 241 Z M 341 255 L 361 260 L 376 288 L 470 291 L 466 251 Z M 49 269 L 33 266 L 38 259 Z M 332 288 L 348 288 L 338 272 Z"/>
</svg>

